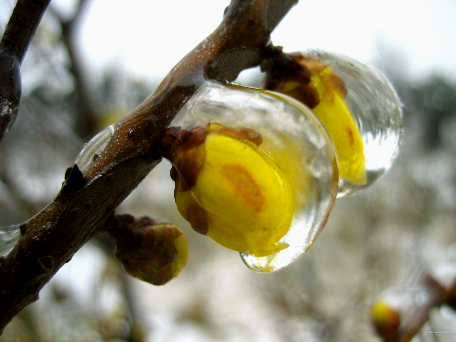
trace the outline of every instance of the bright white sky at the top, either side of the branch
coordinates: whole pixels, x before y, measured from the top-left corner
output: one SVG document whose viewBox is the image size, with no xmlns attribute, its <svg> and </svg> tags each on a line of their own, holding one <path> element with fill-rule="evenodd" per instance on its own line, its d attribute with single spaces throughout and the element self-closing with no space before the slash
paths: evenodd
<svg viewBox="0 0 456 342">
<path fill-rule="evenodd" d="M 219 24 L 227 4 L 93 0 L 82 23 L 83 51 L 92 68 L 117 63 L 161 79 Z M 454 18 L 455 0 L 300 0 L 272 40 L 285 51 L 324 49 L 361 61 L 393 53 L 407 71 L 446 70 L 456 78 Z"/>
</svg>

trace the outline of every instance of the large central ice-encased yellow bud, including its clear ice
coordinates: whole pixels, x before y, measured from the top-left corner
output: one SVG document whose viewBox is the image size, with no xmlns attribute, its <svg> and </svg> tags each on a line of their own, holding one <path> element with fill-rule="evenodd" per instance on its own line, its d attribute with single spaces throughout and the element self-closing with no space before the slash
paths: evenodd
<svg viewBox="0 0 456 342">
<path fill-rule="evenodd" d="M 207 82 L 155 144 L 177 171 L 183 216 L 257 272 L 304 253 L 337 193 L 322 124 L 305 105 L 263 90 Z"/>
</svg>

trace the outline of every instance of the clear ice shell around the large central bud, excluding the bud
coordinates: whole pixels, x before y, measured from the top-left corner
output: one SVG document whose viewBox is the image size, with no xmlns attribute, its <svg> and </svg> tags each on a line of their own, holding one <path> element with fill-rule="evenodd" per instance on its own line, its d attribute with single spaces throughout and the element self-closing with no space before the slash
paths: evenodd
<svg viewBox="0 0 456 342">
<path fill-rule="evenodd" d="M 280 270 L 309 249 L 337 194 L 337 164 L 329 135 L 308 107 L 283 97 L 253 88 L 207 82 L 170 124 L 191 129 L 211 122 L 253 129 L 263 137 L 259 148 L 289 178 L 295 211 L 288 233 L 279 241 L 289 246 L 265 257 L 241 253 L 245 264 L 256 272 Z"/>
</svg>

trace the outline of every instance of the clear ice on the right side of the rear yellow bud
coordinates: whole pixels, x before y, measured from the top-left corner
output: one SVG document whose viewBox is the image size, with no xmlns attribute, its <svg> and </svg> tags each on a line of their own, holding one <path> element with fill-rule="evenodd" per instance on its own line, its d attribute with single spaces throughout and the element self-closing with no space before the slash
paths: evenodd
<svg viewBox="0 0 456 342">
<path fill-rule="evenodd" d="M 304 55 L 328 65 L 344 80 L 346 103 L 363 139 L 367 182 L 358 185 L 340 179 L 337 197 L 343 197 L 371 185 L 391 167 L 402 137 L 402 104 L 391 83 L 373 66 L 323 51 Z"/>
</svg>

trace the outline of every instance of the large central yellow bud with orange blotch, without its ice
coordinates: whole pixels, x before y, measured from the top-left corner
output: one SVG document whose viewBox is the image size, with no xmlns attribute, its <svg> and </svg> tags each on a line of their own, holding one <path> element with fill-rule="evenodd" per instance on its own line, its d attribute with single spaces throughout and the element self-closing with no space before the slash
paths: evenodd
<svg viewBox="0 0 456 342">
<path fill-rule="evenodd" d="M 278 241 L 293 218 L 293 189 L 277 163 L 238 133 L 212 124 L 202 145 L 176 156 L 178 172 L 189 155 L 204 161 L 192 187 L 179 182 L 193 180 L 176 180 L 176 204 L 196 231 L 220 245 L 266 256 L 287 247 Z"/>
</svg>

